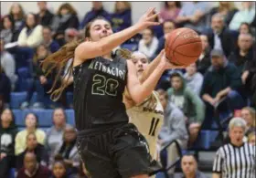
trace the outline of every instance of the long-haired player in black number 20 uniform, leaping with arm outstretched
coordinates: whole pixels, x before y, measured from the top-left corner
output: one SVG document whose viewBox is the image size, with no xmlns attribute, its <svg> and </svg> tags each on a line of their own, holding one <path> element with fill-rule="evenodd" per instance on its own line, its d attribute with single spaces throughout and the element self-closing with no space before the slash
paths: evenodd
<svg viewBox="0 0 256 178">
<path fill-rule="evenodd" d="M 166 68 L 176 68 L 166 58 L 140 84 L 133 62 L 112 55 L 112 49 L 133 37 L 153 22 L 155 8 L 150 8 L 138 23 L 112 34 L 112 26 L 102 18 L 86 26 L 85 41 L 67 44 L 43 62 L 43 68 L 65 66 L 73 58 L 69 75 L 74 77 L 74 110 L 78 134 L 78 150 L 92 178 L 147 178 L 154 171 L 144 137 L 128 123 L 123 91 L 126 87 L 135 103 L 141 103 L 155 89 Z M 61 72 L 58 73 L 57 78 Z M 69 79 L 68 79 L 69 80 Z M 67 83 L 57 80 L 51 89 L 58 99 Z"/>
</svg>

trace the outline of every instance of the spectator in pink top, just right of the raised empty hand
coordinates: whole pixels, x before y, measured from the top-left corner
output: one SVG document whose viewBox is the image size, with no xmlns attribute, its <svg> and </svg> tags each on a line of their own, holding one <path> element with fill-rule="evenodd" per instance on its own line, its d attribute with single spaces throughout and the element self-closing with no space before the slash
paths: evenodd
<svg viewBox="0 0 256 178">
<path fill-rule="evenodd" d="M 175 21 L 179 14 L 181 3 L 179 1 L 165 1 L 164 8 L 160 11 L 160 22 Z"/>
</svg>

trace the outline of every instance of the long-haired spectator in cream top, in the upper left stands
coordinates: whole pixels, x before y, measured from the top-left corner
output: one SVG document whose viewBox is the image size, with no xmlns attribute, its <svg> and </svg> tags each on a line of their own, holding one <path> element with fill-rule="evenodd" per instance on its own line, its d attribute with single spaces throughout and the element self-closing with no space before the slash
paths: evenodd
<svg viewBox="0 0 256 178">
<path fill-rule="evenodd" d="M 19 47 L 37 47 L 43 41 L 42 26 L 37 24 L 37 16 L 30 13 L 26 17 L 26 26 L 21 30 L 17 44 Z"/>
</svg>

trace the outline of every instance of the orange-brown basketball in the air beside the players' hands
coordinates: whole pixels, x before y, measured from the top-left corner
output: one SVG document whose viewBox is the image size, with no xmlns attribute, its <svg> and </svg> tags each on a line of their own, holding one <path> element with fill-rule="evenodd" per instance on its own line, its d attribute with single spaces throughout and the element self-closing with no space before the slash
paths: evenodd
<svg viewBox="0 0 256 178">
<path fill-rule="evenodd" d="M 196 62 L 201 52 L 201 39 L 190 28 L 177 28 L 165 37 L 165 56 L 177 66 L 188 66 Z"/>
</svg>

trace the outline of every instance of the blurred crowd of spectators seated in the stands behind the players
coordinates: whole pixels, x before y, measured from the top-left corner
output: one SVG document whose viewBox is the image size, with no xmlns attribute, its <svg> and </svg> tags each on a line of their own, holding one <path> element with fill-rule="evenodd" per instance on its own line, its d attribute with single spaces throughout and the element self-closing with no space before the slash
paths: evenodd
<svg viewBox="0 0 256 178">
<path fill-rule="evenodd" d="M 40 62 L 59 47 L 83 39 L 84 26 L 97 16 L 108 19 L 114 32 L 131 26 L 131 4 L 116 2 L 114 12 L 108 12 L 101 2 L 92 2 L 91 11 L 81 20 L 69 3 L 60 5 L 55 13 L 48 9 L 47 2 L 37 2 L 37 14 L 26 13 L 22 4 L 14 3 L 9 14 L 1 15 L 0 177 L 7 177 L 14 167 L 17 177 L 33 177 L 35 173 L 40 173 L 37 177 L 84 177 L 75 146 L 77 133 L 66 123 L 62 109 L 72 108 L 67 93 L 72 92 L 73 80 L 69 79 L 69 87 L 57 102 L 49 101 L 47 91 L 56 73 L 52 71 L 45 77 Z M 211 130 L 216 125 L 223 131 L 227 129 L 233 116 L 246 121 L 248 131 L 244 136 L 255 144 L 255 3 L 241 2 L 240 7 L 237 9 L 233 2 L 219 2 L 217 6 L 209 2 L 163 2 L 155 18 L 162 25 L 145 29 L 121 46 L 141 51 L 154 60 L 165 48 L 165 37 L 176 28 L 189 27 L 200 35 L 203 51 L 197 62 L 183 70 L 165 71 L 157 85 L 162 105 L 171 102 L 174 110 L 184 115 L 189 138 L 184 149 L 197 145 L 201 130 Z M 66 72 L 62 71 L 59 83 L 66 80 Z M 55 109 L 53 126 L 48 131 L 37 127 L 37 115 L 33 112 L 25 118 L 26 128 L 17 130 L 10 101 L 11 93 L 19 91 L 27 91 L 20 110 Z M 35 92 L 37 100 L 32 103 Z M 171 123 L 164 127 L 171 127 Z M 176 130 L 173 128 L 169 134 Z M 176 136 L 174 140 L 179 139 Z M 197 162 L 189 155 L 184 159 Z"/>
</svg>

